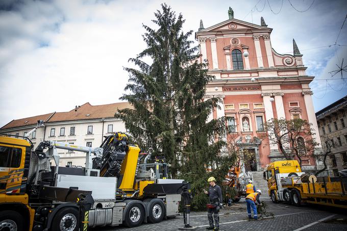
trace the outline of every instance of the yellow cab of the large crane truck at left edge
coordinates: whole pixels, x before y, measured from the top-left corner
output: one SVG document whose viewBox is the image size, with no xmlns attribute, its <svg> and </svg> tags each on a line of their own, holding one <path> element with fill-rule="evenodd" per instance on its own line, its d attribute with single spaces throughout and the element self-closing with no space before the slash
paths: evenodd
<svg viewBox="0 0 347 231">
<path fill-rule="evenodd" d="M 28 206 L 26 193 L 30 152 L 28 141 L 0 137 L 0 220 L 5 216 L 9 218 L 6 224 L 2 224 L 4 227 L 32 228 L 35 211 Z M 23 221 L 26 224 L 21 224 Z"/>
</svg>

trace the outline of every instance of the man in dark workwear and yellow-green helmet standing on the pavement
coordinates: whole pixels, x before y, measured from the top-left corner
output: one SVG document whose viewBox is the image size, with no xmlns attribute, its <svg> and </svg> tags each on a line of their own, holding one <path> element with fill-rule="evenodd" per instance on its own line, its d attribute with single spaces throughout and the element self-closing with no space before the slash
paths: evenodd
<svg viewBox="0 0 347 231">
<path fill-rule="evenodd" d="M 207 209 L 207 218 L 208 218 L 208 222 L 210 224 L 209 227 L 207 227 L 206 229 L 210 229 L 210 230 L 219 230 L 219 207 L 222 207 L 222 195 L 221 195 L 221 189 L 218 185 L 216 185 L 216 179 L 211 176 L 210 178 L 208 178 L 207 182 L 210 184 L 209 190 L 208 192 L 204 189 L 205 194 L 209 195 L 210 198 L 210 206 L 208 206 Z M 210 207 L 210 208 L 209 208 Z M 213 218 L 214 218 L 214 223 L 215 226 L 213 226 L 213 218 L 212 218 L 212 214 L 213 214 Z"/>
</svg>

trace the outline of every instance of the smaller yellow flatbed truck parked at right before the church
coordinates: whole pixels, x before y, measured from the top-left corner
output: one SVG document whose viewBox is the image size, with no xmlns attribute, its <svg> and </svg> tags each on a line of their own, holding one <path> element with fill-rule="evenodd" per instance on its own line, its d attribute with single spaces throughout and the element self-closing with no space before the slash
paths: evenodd
<svg viewBox="0 0 347 231">
<path fill-rule="evenodd" d="M 301 171 L 296 160 L 275 161 L 266 166 L 264 179 L 274 203 L 301 206 L 304 202 L 347 208 L 342 177 L 315 177 Z"/>
</svg>

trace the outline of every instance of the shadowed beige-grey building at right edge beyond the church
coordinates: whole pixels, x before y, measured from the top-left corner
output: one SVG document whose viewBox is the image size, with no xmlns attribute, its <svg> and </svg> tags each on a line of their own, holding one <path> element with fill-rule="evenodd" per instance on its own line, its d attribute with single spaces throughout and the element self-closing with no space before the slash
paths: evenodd
<svg viewBox="0 0 347 231">
<path fill-rule="evenodd" d="M 338 171 L 347 169 L 347 96 L 337 100 L 316 113 L 320 140 L 323 148 L 332 144 L 327 158 L 329 174 L 338 176 Z"/>
</svg>

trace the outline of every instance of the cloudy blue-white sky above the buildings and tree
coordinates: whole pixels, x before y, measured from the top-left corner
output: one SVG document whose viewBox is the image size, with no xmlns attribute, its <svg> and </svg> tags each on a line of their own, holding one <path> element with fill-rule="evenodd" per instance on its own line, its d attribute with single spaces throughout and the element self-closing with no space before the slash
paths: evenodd
<svg viewBox="0 0 347 231">
<path fill-rule="evenodd" d="M 329 73 L 343 57 L 347 64 L 347 22 L 337 40 L 344 46 L 333 45 L 346 17 L 347 1 L 312 1 L 166 3 L 183 14 L 185 31 L 197 31 L 200 19 L 205 28 L 227 20 L 231 6 L 240 20 L 260 24 L 263 16 L 274 29 L 271 44 L 278 53 L 292 52 L 294 38 L 304 55 L 307 73 L 315 76 L 310 86 L 318 111 L 347 95 L 347 80 L 342 80 L 340 73 L 333 78 Z M 69 111 L 85 102 L 101 105 L 119 101 L 128 81 L 122 67 L 130 66 L 128 59 L 145 48 L 142 23 L 153 26 L 153 12 L 161 3 L 1 0 L 0 126 L 12 119 Z"/>
</svg>

